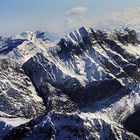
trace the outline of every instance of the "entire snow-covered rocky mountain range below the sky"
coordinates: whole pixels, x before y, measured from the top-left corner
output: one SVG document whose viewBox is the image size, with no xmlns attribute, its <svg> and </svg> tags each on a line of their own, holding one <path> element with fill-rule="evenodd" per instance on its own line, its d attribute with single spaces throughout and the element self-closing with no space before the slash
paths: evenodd
<svg viewBox="0 0 140 140">
<path fill-rule="evenodd" d="M 139 140 L 140 33 L 50 36 L 0 40 L 0 139 Z"/>
</svg>

